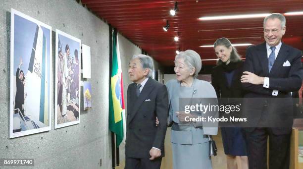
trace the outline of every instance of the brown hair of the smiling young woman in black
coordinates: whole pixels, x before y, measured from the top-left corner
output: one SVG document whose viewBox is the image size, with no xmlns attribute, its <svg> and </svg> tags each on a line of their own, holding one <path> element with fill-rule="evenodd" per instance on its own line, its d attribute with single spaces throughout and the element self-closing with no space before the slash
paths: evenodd
<svg viewBox="0 0 303 169">
<path fill-rule="evenodd" d="M 213 44 L 213 48 L 216 48 L 217 46 L 224 46 L 227 49 L 232 47 L 232 52 L 230 54 L 230 62 L 238 62 L 241 60 L 241 57 L 238 54 L 237 49 L 234 46 L 232 46 L 231 42 L 227 38 L 223 37 L 223 38 L 217 39 L 216 42 Z M 222 63 L 223 63 L 223 61 L 218 59 L 217 65 L 220 65 Z"/>
</svg>

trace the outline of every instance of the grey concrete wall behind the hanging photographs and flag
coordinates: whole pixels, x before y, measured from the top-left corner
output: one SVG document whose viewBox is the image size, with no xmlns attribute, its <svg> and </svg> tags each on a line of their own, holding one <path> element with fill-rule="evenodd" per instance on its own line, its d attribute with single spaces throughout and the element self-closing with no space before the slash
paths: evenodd
<svg viewBox="0 0 303 169">
<path fill-rule="evenodd" d="M 80 124 L 54 130 L 53 77 L 51 130 L 9 139 L 10 8 L 52 27 L 53 74 L 55 29 L 79 38 L 83 44 L 91 47 L 92 78 L 87 81 L 92 83 L 92 109 L 81 112 Z M 123 36 L 118 36 L 126 93 L 130 83 L 127 77 L 128 62 L 134 54 L 141 54 L 141 49 Z M 111 141 L 108 130 L 108 38 L 108 25 L 76 0 L 1 0 L 0 158 L 33 158 L 35 169 L 111 169 Z M 123 145 L 120 150 L 120 158 L 123 160 Z"/>
</svg>

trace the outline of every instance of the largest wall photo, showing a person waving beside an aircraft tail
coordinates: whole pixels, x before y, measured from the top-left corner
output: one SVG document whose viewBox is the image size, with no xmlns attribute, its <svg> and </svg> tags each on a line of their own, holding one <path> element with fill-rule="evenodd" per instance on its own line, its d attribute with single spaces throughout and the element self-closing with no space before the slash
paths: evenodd
<svg viewBox="0 0 303 169">
<path fill-rule="evenodd" d="M 50 130 L 51 27 L 11 9 L 9 138 Z"/>
</svg>

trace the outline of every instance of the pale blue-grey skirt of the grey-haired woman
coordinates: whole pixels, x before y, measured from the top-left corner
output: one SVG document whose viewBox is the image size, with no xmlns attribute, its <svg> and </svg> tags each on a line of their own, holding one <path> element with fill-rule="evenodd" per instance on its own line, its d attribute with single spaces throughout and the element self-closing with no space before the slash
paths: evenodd
<svg viewBox="0 0 303 169">
<path fill-rule="evenodd" d="M 212 169 L 209 143 L 172 144 L 173 169 Z"/>
</svg>

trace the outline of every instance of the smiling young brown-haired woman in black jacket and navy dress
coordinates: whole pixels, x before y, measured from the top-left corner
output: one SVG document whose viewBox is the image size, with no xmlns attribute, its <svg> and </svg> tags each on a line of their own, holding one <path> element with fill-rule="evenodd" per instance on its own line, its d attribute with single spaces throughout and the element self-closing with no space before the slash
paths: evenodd
<svg viewBox="0 0 303 169">
<path fill-rule="evenodd" d="M 242 98 L 241 86 L 243 62 L 227 38 L 217 39 L 214 51 L 219 58 L 212 69 L 211 83 L 218 98 Z M 248 169 L 245 136 L 239 127 L 221 128 L 227 169 Z"/>
</svg>

